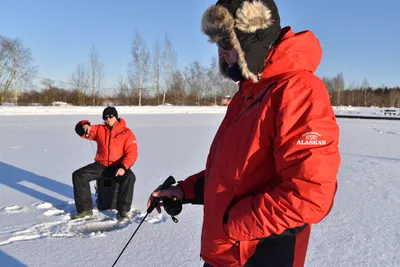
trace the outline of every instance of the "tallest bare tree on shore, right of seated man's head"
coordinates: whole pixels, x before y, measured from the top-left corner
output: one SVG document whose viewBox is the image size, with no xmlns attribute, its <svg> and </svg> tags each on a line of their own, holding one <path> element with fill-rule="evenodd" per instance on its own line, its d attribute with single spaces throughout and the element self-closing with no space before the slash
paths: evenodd
<svg viewBox="0 0 400 267">
<path fill-rule="evenodd" d="M 136 84 L 139 87 L 139 106 L 142 105 L 142 90 L 148 74 L 149 52 L 146 49 L 140 33 L 136 31 L 134 41 L 131 47 L 132 61 L 128 71 L 128 79 L 131 85 Z"/>
</svg>

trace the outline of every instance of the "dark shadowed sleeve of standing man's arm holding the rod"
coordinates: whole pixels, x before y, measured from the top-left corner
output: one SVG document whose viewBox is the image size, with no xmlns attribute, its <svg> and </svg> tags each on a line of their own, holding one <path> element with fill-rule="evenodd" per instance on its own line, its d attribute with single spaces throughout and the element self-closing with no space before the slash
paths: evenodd
<svg viewBox="0 0 400 267">
<path fill-rule="evenodd" d="M 178 182 L 184 193 L 183 204 L 204 204 L 204 175 L 203 170 Z"/>
</svg>

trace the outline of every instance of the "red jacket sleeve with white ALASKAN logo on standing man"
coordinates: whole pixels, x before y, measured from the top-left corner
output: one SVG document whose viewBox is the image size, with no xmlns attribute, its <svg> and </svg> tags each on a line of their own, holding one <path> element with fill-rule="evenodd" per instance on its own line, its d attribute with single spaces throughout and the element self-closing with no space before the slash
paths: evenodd
<svg viewBox="0 0 400 267">
<path fill-rule="evenodd" d="M 274 158 L 280 183 L 233 205 L 224 225 L 230 238 L 280 234 L 287 228 L 318 223 L 330 212 L 340 164 L 339 128 L 327 90 L 319 81 L 311 86 L 291 85 L 272 100 L 279 103 Z"/>
</svg>

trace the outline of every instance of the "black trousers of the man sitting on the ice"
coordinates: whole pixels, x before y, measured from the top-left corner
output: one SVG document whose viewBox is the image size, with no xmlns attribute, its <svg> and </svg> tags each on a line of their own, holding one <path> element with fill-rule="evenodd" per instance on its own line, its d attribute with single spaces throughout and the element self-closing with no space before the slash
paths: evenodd
<svg viewBox="0 0 400 267">
<path fill-rule="evenodd" d="M 123 176 L 115 176 L 117 170 L 118 167 L 107 167 L 94 162 L 74 171 L 72 183 L 74 185 L 74 199 L 78 213 L 93 209 L 89 182 L 103 177 L 113 177 L 119 184 L 117 209 L 121 211 L 129 211 L 131 209 L 136 177 L 131 169 L 126 170 Z"/>
</svg>

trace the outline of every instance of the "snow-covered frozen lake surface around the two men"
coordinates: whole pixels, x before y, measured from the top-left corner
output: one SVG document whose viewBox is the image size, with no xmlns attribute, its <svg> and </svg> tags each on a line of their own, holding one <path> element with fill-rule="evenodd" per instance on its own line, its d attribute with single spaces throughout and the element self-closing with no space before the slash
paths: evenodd
<svg viewBox="0 0 400 267">
<path fill-rule="evenodd" d="M 74 126 L 101 123 L 102 110 L 0 106 L 0 266 L 112 266 L 151 191 L 169 175 L 180 180 L 204 167 L 226 107 L 119 107 L 139 145 L 133 219 L 120 223 L 116 211 L 94 209 L 94 218 L 71 221 L 71 173 L 92 162 L 96 148 Z M 338 122 L 339 188 L 331 213 L 313 226 L 306 266 L 400 266 L 400 121 Z M 185 205 L 177 217 L 150 214 L 116 266 L 201 267 L 201 206 Z"/>
</svg>

